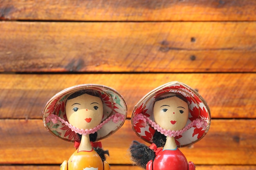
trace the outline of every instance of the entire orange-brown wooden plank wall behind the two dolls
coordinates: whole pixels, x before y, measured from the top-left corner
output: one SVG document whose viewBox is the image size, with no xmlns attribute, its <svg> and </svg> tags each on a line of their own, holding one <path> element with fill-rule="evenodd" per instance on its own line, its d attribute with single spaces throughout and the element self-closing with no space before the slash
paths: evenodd
<svg viewBox="0 0 256 170">
<path fill-rule="evenodd" d="M 176 80 L 212 115 L 208 134 L 181 148 L 188 161 L 256 170 L 255 0 L 0 0 L 0 168 L 58 170 L 74 148 L 46 130 L 43 108 L 64 88 L 96 83 L 128 107 L 124 126 L 102 140 L 111 169 L 140 170 L 128 153 L 141 141 L 132 109 Z"/>
</svg>

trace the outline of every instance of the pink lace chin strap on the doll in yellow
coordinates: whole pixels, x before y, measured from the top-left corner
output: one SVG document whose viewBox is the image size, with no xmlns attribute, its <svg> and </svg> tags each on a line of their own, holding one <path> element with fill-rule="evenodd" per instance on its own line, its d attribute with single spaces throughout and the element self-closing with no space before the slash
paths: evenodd
<svg viewBox="0 0 256 170">
<path fill-rule="evenodd" d="M 102 128 L 102 126 L 104 126 L 106 123 L 108 123 L 111 119 L 114 123 L 117 123 L 119 120 L 124 121 L 124 115 L 122 115 L 120 113 L 115 113 L 114 115 L 103 120 L 103 122 L 101 124 L 99 124 L 98 126 L 92 128 L 92 129 L 76 128 L 76 127 L 72 126 L 71 124 L 69 124 L 67 121 L 65 121 L 65 120 L 61 119 L 60 117 L 58 117 L 57 115 L 53 115 L 53 114 L 46 117 L 45 121 L 46 121 L 46 123 L 48 123 L 49 121 L 52 121 L 52 123 L 56 124 L 59 120 L 59 121 L 61 121 L 61 123 L 68 126 L 72 131 L 74 131 L 80 135 L 89 135 L 89 134 L 97 132 L 100 128 Z"/>
</svg>

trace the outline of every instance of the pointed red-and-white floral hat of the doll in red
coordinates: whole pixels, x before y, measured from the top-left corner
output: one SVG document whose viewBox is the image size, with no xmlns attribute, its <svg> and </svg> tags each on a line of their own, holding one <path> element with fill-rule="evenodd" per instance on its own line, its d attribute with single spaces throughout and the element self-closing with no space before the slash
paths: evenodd
<svg viewBox="0 0 256 170">
<path fill-rule="evenodd" d="M 179 93 L 188 100 L 189 104 L 189 119 L 187 120 L 186 126 L 191 125 L 192 127 L 184 131 L 181 135 L 175 136 L 177 146 L 189 146 L 202 139 L 210 128 L 210 109 L 198 92 L 186 84 L 177 81 L 169 82 L 155 88 L 137 103 L 132 111 L 131 117 L 132 128 L 135 133 L 144 141 L 150 144 L 152 143 L 153 135 L 156 131 L 155 128 L 138 117 L 142 115 L 146 119 L 154 122 L 153 105 L 155 99 L 166 93 Z M 196 124 L 192 124 L 195 120 L 203 122 L 204 126 L 198 127 Z"/>
</svg>

